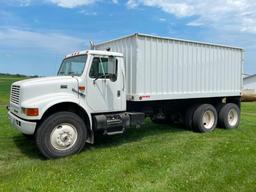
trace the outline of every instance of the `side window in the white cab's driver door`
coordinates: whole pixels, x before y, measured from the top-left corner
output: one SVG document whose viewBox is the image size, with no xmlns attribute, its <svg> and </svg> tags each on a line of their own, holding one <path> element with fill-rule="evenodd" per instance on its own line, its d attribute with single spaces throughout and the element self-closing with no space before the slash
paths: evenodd
<svg viewBox="0 0 256 192">
<path fill-rule="evenodd" d="M 94 57 L 89 72 L 90 78 L 117 79 L 118 60 L 115 57 Z"/>
</svg>

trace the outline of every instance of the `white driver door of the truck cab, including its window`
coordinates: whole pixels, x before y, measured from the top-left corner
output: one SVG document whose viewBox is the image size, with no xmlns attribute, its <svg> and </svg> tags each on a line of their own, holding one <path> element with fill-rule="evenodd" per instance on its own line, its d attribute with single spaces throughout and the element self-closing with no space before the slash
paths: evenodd
<svg viewBox="0 0 256 192">
<path fill-rule="evenodd" d="M 123 111 L 122 78 L 119 59 L 113 56 L 92 58 L 87 77 L 86 101 L 94 113 Z"/>
</svg>

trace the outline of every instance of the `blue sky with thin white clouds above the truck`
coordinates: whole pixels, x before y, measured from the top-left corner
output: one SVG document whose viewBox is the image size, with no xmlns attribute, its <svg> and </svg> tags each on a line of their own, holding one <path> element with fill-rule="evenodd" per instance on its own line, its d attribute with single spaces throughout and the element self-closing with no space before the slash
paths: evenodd
<svg viewBox="0 0 256 192">
<path fill-rule="evenodd" d="M 136 32 L 242 47 L 256 73 L 255 0 L 0 0 L 0 73 L 55 75 L 89 41 Z"/>
</svg>

